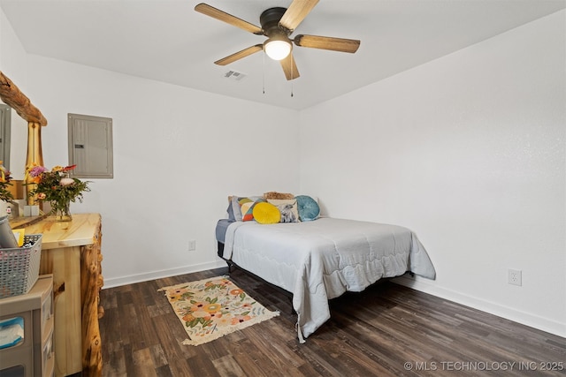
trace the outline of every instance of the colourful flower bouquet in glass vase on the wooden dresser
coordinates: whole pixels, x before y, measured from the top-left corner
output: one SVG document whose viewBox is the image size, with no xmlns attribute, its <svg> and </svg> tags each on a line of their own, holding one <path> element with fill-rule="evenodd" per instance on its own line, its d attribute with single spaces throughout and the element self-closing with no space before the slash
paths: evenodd
<svg viewBox="0 0 566 377">
<path fill-rule="evenodd" d="M 51 214 L 57 221 L 71 221 L 69 207 L 71 202 L 79 200 L 82 203 L 82 192 L 90 191 L 88 181 L 69 177 L 69 171 L 77 165 L 56 166 L 47 170 L 43 166 L 32 165 L 26 169 L 27 185 L 34 185 L 28 195 L 37 200 L 49 201 Z"/>
</svg>

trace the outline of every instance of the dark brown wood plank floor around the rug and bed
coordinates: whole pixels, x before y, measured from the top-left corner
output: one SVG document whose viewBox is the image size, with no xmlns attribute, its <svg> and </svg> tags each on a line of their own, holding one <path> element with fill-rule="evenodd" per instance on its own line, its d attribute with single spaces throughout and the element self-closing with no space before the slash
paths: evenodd
<svg viewBox="0 0 566 377">
<path fill-rule="evenodd" d="M 383 281 L 331 301 L 331 320 L 298 343 L 289 297 L 240 270 L 234 283 L 280 315 L 199 346 L 164 286 L 227 268 L 103 290 L 103 376 L 566 375 L 566 339 Z"/>
</svg>

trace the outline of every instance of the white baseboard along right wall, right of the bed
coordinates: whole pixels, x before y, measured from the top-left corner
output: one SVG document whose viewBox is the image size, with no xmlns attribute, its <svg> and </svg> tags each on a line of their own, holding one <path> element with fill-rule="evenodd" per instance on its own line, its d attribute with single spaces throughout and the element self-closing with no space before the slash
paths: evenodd
<svg viewBox="0 0 566 377">
<path fill-rule="evenodd" d="M 499 305 L 493 302 L 483 300 L 481 298 L 474 298 L 471 296 L 463 295 L 462 293 L 454 290 L 447 290 L 437 287 L 435 285 L 417 281 L 410 277 L 400 276 L 392 279 L 392 282 L 412 288 L 413 290 L 420 290 L 424 293 L 431 294 L 439 298 L 445 298 L 455 303 L 466 305 L 482 312 L 497 315 L 498 317 L 505 318 L 506 320 L 513 320 L 531 328 L 537 328 L 547 333 L 556 336 L 566 337 L 566 323 L 549 320 L 532 313 L 525 313 L 518 311 L 512 307 Z"/>
</svg>

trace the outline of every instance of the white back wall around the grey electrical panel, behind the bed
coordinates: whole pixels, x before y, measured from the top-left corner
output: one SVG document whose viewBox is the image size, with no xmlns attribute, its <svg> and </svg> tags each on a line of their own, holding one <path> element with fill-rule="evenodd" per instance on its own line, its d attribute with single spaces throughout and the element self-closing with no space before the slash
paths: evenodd
<svg viewBox="0 0 566 377">
<path fill-rule="evenodd" d="M 13 44 L 0 46 L 4 57 Z M 114 178 L 93 180 L 84 203 L 71 207 L 103 216 L 106 288 L 226 266 L 216 255 L 214 229 L 226 216 L 227 196 L 298 190 L 294 110 L 44 57 L 24 59 L 25 72 L 0 63 L 16 84 L 27 77 L 20 88 L 48 119 L 42 129 L 48 168 L 68 162 L 68 113 L 113 119 Z M 195 252 L 187 251 L 191 239 Z"/>
</svg>

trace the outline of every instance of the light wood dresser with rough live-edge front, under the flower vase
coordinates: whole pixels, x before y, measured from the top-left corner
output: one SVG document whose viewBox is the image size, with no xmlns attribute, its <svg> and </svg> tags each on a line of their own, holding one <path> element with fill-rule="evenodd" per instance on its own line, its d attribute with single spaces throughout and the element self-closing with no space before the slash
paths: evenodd
<svg viewBox="0 0 566 377">
<path fill-rule="evenodd" d="M 40 275 L 53 274 L 55 375 L 100 376 L 101 216 L 73 214 L 72 222 L 48 217 L 26 227 L 26 234 L 38 233 L 43 235 Z"/>
</svg>

